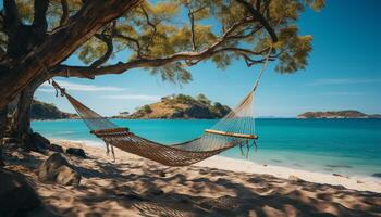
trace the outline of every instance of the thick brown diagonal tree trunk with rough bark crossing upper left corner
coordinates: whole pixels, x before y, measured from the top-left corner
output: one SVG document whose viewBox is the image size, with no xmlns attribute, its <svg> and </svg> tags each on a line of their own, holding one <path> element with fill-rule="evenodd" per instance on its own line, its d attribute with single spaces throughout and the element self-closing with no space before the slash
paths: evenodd
<svg viewBox="0 0 381 217">
<path fill-rule="evenodd" d="M 12 2 L 12 1 L 4 1 Z M 139 0 L 91 0 L 66 25 L 47 35 L 42 43 L 32 44 L 26 53 L 0 62 L 0 110 L 44 71 L 59 65 L 90 39 L 98 29 L 140 3 Z M 19 29 L 16 29 L 19 30 Z"/>
</svg>

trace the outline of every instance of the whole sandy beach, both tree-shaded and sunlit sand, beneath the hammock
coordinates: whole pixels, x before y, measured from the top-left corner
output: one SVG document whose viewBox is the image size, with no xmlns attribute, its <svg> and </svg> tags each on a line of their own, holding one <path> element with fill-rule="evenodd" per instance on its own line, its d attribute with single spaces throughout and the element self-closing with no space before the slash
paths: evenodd
<svg viewBox="0 0 381 217">
<path fill-rule="evenodd" d="M 44 210 L 34 216 L 381 216 L 381 180 L 339 177 L 214 156 L 189 167 L 167 167 L 116 151 L 82 148 L 87 158 L 64 155 L 82 175 L 79 186 L 38 180 L 49 154 L 23 153 L 5 168 L 33 181 Z M 378 192 L 378 193 L 377 193 Z"/>
</svg>

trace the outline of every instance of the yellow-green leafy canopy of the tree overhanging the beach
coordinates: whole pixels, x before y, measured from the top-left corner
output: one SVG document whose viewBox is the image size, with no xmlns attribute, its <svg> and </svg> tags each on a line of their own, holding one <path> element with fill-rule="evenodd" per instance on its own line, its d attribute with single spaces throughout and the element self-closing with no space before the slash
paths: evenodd
<svg viewBox="0 0 381 217">
<path fill-rule="evenodd" d="M 84 7 L 83 2 L 86 1 L 50 0 L 47 34 L 63 26 L 67 17 L 74 18 Z M 19 16 L 24 24 L 34 22 L 33 4 L 33 0 L 16 0 Z M 124 58 L 124 63 L 157 60 L 147 66 L 133 67 L 145 67 L 163 80 L 187 82 L 192 80 L 188 66 L 206 60 L 220 68 L 225 68 L 236 59 L 244 60 L 248 66 L 261 63 L 273 41 L 271 60 L 279 58 L 276 71 L 293 73 L 305 68 L 311 51 L 312 37 L 300 36 L 295 25 L 306 7 L 319 11 L 324 1 L 143 1 L 105 25 L 75 54 L 93 69 L 113 65 L 121 58 Z M 4 15 L 4 10 L 1 13 Z M 0 47 L 7 52 L 4 18 L 0 18 Z M 172 59 L 174 55 L 180 58 Z M 130 68 L 126 65 L 125 71 Z"/>
</svg>

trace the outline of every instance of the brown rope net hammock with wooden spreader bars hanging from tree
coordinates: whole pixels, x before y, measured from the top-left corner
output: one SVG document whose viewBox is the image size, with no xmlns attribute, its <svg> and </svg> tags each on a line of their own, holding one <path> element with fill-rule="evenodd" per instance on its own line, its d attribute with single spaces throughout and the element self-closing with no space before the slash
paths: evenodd
<svg viewBox="0 0 381 217">
<path fill-rule="evenodd" d="M 172 145 L 160 144 L 131 132 L 128 128 L 120 128 L 74 99 L 54 80 L 52 80 L 52 86 L 56 88 L 57 94 L 60 91 L 61 95 L 65 97 L 73 105 L 90 129 L 90 133 L 105 141 L 107 153 L 111 150 L 113 156 L 112 148 L 115 146 L 167 166 L 188 166 L 233 146 L 239 146 L 243 155 L 243 149 L 246 148 L 247 157 L 249 149 L 256 146 L 256 139 L 258 139 L 258 136 L 255 135 L 254 95 L 267 67 L 271 50 L 272 46 L 269 48 L 254 88 L 234 110 L 213 127 L 206 129 L 201 137 Z"/>
</svg>

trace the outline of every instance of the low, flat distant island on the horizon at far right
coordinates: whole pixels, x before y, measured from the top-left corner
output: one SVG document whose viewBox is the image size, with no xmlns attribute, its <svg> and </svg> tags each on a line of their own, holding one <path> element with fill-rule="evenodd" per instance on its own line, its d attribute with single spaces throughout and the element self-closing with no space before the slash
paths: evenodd
<svg viewBox="0 0 381 217">
<path fill-rule="evenodd" d="M 297 115 L 299 119 L 307 118 L 381 118 L 380 114 L 365 114 L 356 110 L 328 111 L 328 112 L 306 112 Z"/>
</svg>

